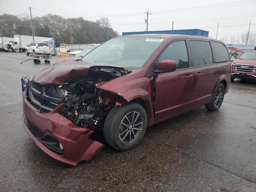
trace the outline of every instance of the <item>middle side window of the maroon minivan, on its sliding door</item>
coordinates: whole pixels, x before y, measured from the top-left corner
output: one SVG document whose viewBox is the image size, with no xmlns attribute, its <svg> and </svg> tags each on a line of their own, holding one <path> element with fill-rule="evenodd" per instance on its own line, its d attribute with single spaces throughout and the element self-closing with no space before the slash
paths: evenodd
<svg viewBox="0 0 256 192">
<path fill-rule="evenodd" d="M 190 40 L 190 67 L 212 64 L 212 49 L 210 42 Z"/>
</svg>

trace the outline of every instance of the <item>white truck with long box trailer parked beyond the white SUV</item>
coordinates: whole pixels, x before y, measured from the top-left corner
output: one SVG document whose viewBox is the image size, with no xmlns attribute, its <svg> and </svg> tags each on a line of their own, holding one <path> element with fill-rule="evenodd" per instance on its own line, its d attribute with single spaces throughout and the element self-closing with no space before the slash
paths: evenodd
<svg viewBox="0 0 256 192">
<path fill-rule="evenodd" d="M 44 42 L 50 37 L 34 36 L 34 42 Z M 28 35 L 14 35 L 14 40 L 5 43 L 4 49 L 8 52 L 25 52 L 26 47 L 33 42 L 33 37 Z"/>
</svg>

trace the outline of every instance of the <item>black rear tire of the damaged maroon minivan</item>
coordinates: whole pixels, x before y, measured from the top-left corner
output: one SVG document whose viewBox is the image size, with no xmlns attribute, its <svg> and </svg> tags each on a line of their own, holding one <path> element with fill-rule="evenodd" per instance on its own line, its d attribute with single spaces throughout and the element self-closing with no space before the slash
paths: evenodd
<svg viewBox="0 0 256 192">
<path fill-rule="evenodd" d="M 217 95 L 219 95 L 218 91 L 220 89 L 222 91 L 221 99 L 220 99 L 220 96 L 218 98 L 216 98 Z M 222 83 L 220 83 L 220 84 L 218 84 L 216 90 L 214 91 L 211 102 L 205 105 L 206 109 L 208 109 L 209 111 L 217 111 L 220 108 L 220 106 L 222 105 L 222 102 L 224 100 L 224 95 L 225 95 L 225 88 L 224 88 L 224 85 Z M 216 99 L 219 101 L 216 102 Z M 216 103 L 218 105 L 216 105 Z"/>
</svg>

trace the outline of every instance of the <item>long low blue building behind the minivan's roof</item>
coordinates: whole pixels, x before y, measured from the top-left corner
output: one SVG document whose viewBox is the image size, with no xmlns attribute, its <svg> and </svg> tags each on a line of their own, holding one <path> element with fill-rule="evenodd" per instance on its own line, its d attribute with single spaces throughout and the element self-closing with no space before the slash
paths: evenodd
<svg viewBox="0 0 256 192">
<path fill-rule="evenodd" d="M 200 30 L 200 29 L 122 32 L 122 36 L 135 35 L 135 34 L 180 34 L 180 35 L 198 35 L 198 36 L 208 37 L 209 32 Z"/>
</svg>

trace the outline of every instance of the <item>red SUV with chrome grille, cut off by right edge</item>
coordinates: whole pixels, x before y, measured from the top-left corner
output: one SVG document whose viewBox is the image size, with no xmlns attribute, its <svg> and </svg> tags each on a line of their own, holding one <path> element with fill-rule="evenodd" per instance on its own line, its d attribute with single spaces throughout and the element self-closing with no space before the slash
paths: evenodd
<svg viewBox="0 0 256 192">
<path fill-rule="evenodd" d="M 256 80 L 256 50 L 246 51 L 232 61 L 231 80 L 235 78 Z"/>
</svg>

